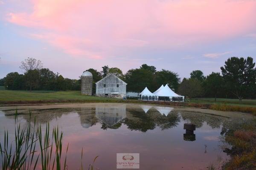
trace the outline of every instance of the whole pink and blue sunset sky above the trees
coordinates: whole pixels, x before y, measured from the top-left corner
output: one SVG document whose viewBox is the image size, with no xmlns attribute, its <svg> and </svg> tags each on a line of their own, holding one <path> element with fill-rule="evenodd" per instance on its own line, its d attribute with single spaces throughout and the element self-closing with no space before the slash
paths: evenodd
<svg viewBox="0 0 256 170">
<path fill-rule="evenodd" d="M 142 64 L 189 77 L 256 60 L 256 0 L 0 0 L 0 78 L 27 57 L 63 77 Z"/>
</svg>

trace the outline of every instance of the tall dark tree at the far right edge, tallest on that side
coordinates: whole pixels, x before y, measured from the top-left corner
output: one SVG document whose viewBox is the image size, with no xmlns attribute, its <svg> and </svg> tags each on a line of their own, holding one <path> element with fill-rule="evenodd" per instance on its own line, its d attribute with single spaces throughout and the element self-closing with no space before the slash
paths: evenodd
<svg viewBox="0 0 256 170">
<path fill-rule="evenodd" d="M 238 97 L 241 102 L 243 97 L 252 92 L 256 83 L 256 68 L 253 58 L 231 57 L 227 59 L 221 73 L 227 89 Z"/>
</svg>

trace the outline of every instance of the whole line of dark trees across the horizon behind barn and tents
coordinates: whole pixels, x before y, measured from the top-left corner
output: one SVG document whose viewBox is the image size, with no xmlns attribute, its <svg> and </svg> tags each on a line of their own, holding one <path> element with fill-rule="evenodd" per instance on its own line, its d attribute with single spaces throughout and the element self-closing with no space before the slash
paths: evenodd
<svg viewBox="0 0 256 170">
<path fill-rule="evenodd" d="M 9 90 L 45 90 L 45 91 L 66 91 L 80 90 L 80 79 L 68 79 L 59 73 L 54 73 L 48 68 L 43 68 L 40 60 L 27 58 L 21 62 L 20 69 L 24 74 L 12 72 L 0 79 L 0 86 Z M 90 68 L 93 74 L 93 93 L 96 91 L 95 83 L 113 73 L 128 83 L 127 91 L 140 92 L 145 87 L 155 91 L 160 85 L 168 84 L 170 88 L 180 95 L 189 98 L 195 97 L 217 97 L 221 98 L 256 98 L 256 68 L 252 57 L 227 59 L 221 67 L 221 73 L 212 72 L 204 76 L 200 70 L 190 73 L 189 78 L 182 81 L 177 73 L 157 68 L 152 65 L 143 64 L 140 68 L 130 69 L 125 74 L 119 68 L 102 67 L 102 71 Z"/>
</svg>

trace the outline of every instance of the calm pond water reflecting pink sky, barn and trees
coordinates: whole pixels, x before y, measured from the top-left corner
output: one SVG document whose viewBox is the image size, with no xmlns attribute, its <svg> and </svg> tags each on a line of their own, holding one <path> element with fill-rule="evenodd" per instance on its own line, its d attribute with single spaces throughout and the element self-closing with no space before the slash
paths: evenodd
<svg viewBox="0 0 256 170">
<path fill-rule="evenodd" d="M 15 108 L 0 110 L 3 142 L 4 130 L 14 136 Z M 209 164 L 218 167 L 228 159 L 221 148 L 221 136 L 227 130 L 224 124 L 235 119 L 186 108 L 104 103 L 22 106 L 18 113 L 18 122 L 24 128 L 34 122 L 34 116 L 42 127 L 47 122 L 50 127 L 58 125 L 64 132 L 63 147 L 69 143 L 70 170 L 79 169 L 82 148 L 84 167 L 99 156 L 95 167 L 100 170 L 116 169 L 116 153 L 140 153 L 141 170 L 198 170 L 207 169 Z M 193 134 L 186 133 L 184 123 L 195 124 Z"/>
</svg>

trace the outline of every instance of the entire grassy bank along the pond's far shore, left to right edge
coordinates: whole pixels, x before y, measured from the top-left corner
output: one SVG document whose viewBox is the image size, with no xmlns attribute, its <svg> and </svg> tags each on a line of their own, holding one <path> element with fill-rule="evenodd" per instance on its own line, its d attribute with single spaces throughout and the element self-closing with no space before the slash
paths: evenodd
<svg viewBox="0 0 256 170">
<path fill-rule="evenodd" d="M 256 100 L 244 99 L 191 99 L 190 102 L 161 102 L 122 100 L 107 97 L 81 95 L 80 91 L 0 91 L 0 105 L 26 105 L 43 103 L 71 103 L 71 102 L 128 102 L 148 103 L 158 105 L 186 106 L 195 108 L 208 108 L 217 111 L 239 111 L 256 115 Z"/>
</svg>

